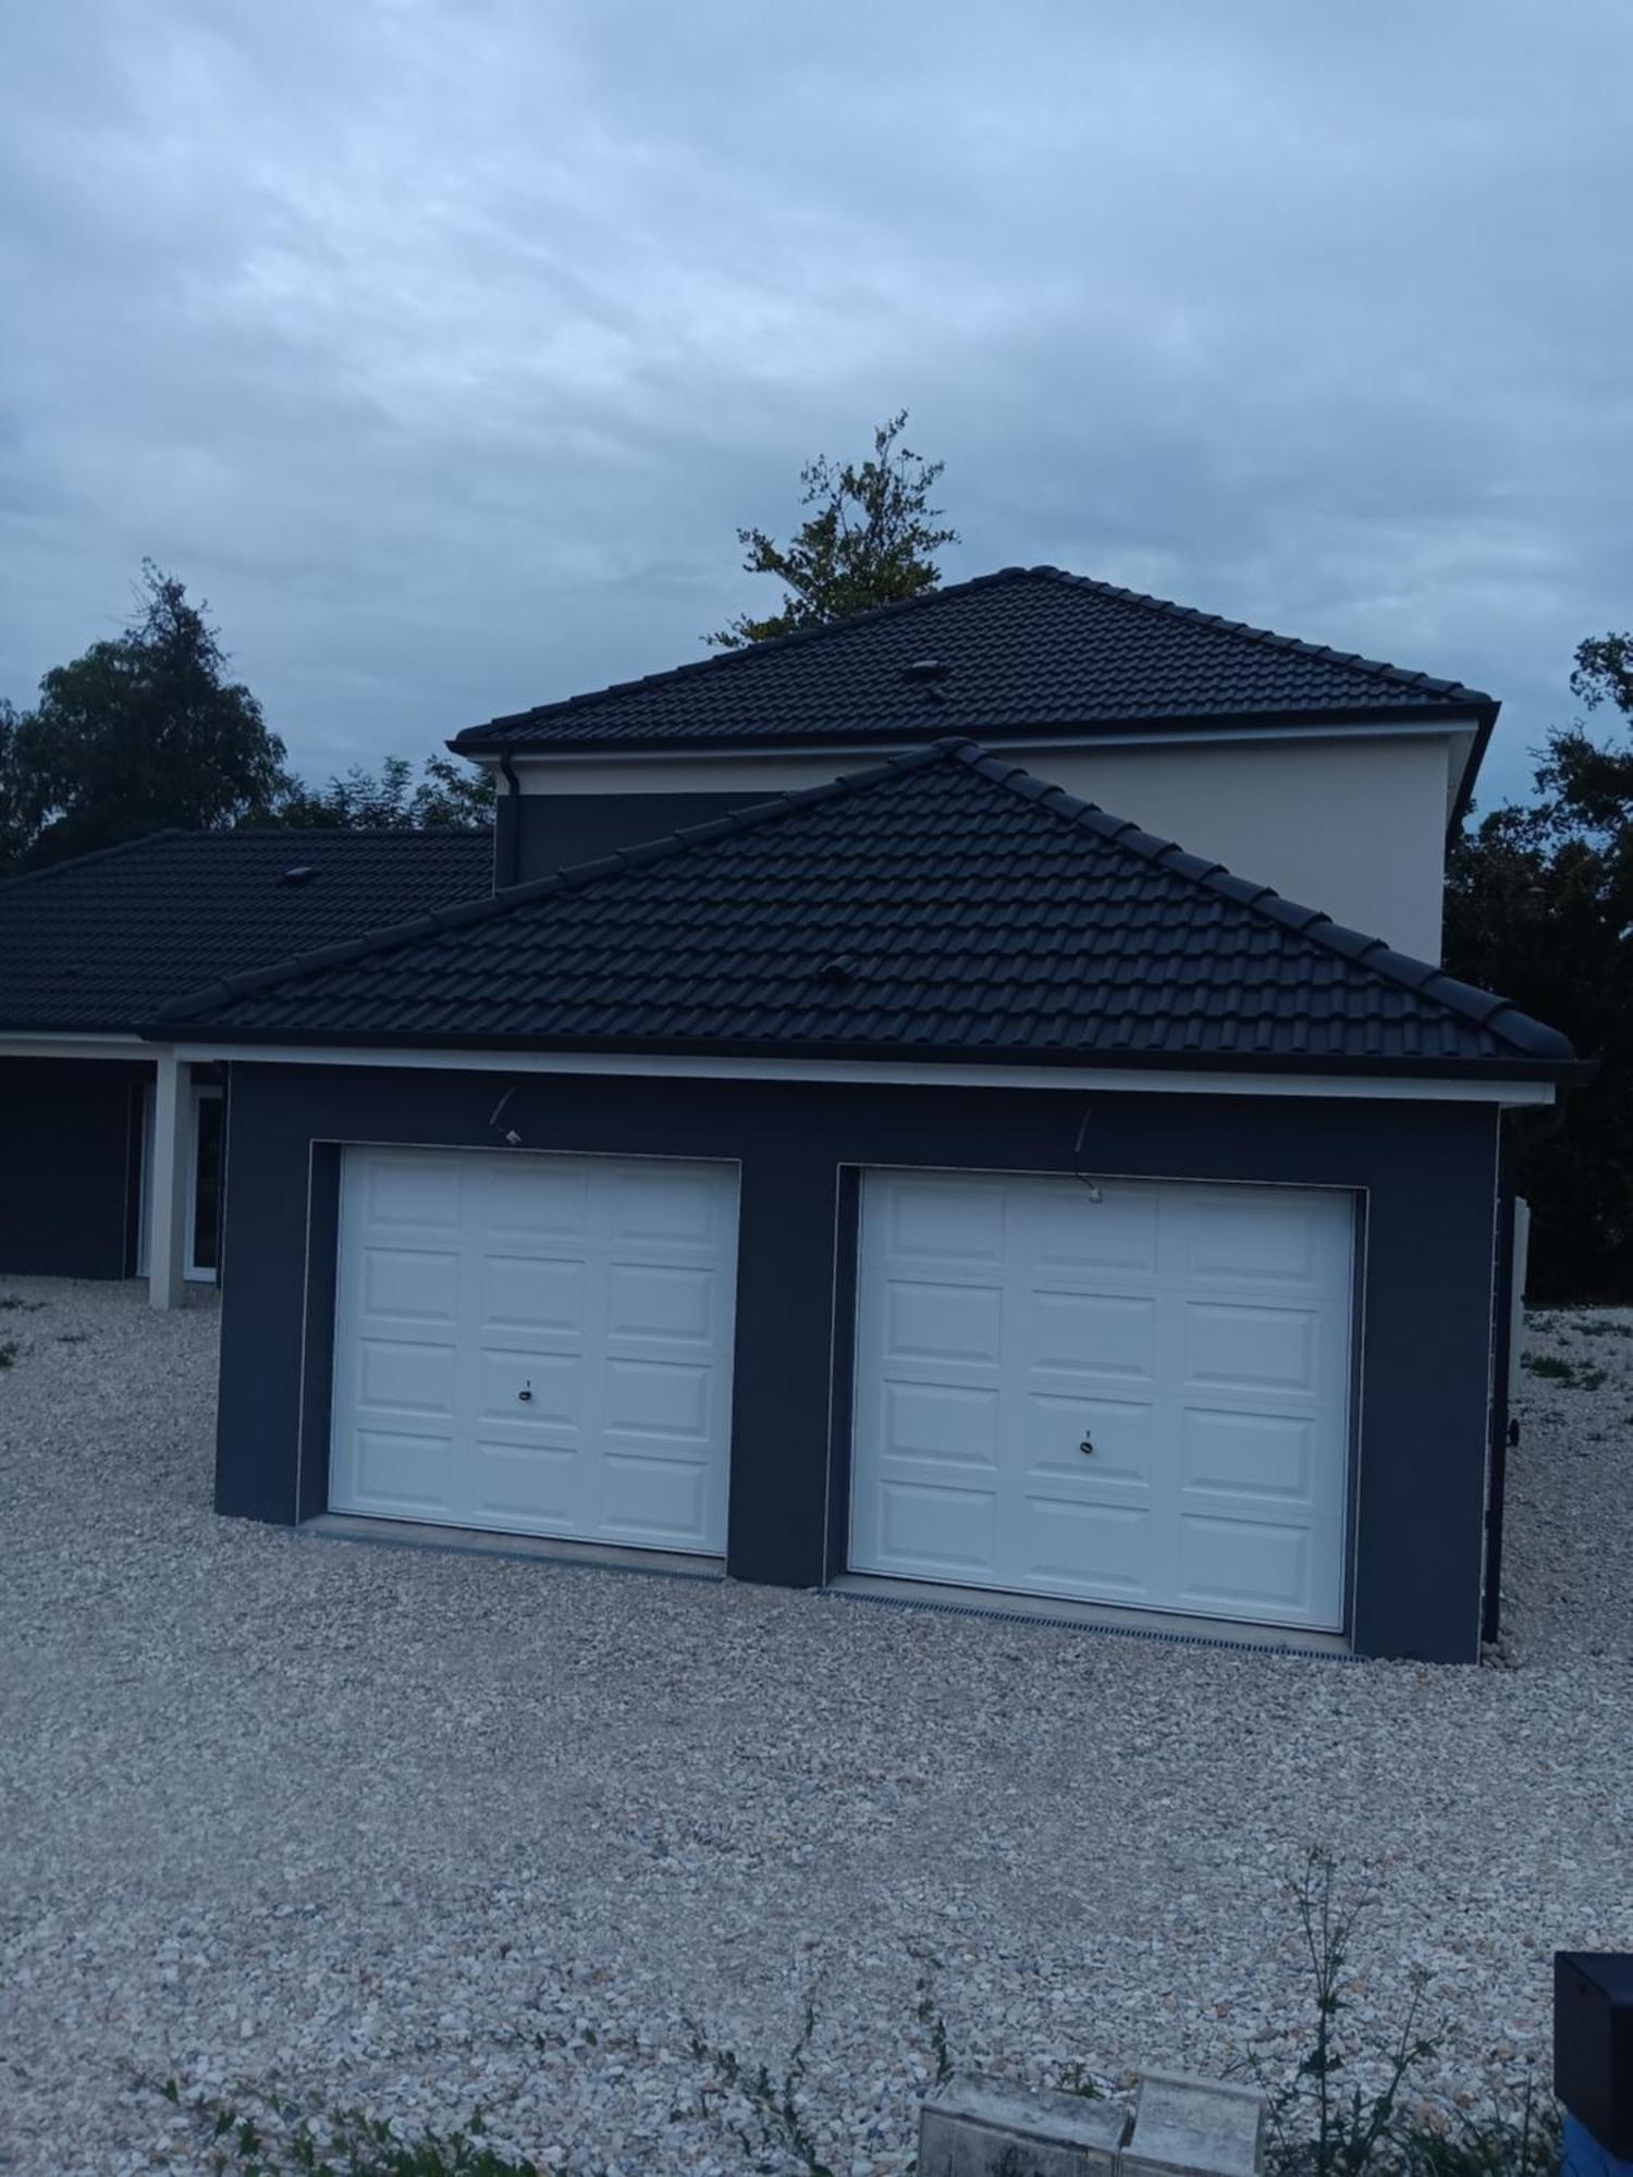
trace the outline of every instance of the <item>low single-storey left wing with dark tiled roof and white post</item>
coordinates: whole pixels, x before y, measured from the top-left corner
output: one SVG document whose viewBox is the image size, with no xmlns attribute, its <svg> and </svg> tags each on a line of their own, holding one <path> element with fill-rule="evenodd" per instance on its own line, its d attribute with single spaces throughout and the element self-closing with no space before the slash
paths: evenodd
<svg viewBox="0 0 1633 2177">
<path fill-rule="evenodd" d="M 170 999 L 492 890 L 492 836 L 159 832 L 0 884 L 0 1271 L 216 1282 L 220 1067 Z M 155 1182 L 155 1143 L 161 1156 Z"/>
</svg>

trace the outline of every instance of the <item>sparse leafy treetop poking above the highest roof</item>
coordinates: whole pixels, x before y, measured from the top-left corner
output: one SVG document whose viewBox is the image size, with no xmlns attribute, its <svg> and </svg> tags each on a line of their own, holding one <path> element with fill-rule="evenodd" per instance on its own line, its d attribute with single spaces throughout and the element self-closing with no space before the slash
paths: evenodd
<svg viewBox="0 0 1633 2177">
<path fill-rule="evenodd" d="M 860 466 L 836 468 L 819 455 L 799 470 L 799 503 L 814 512 L 790 544 L 777 544 L 764 529 L 738 529 L 747 573 L 784 583 L 782 610 L 764 620 L 745 612 L 708 642 L 734 651 L 936 588 L 934 553 L 958 542 L 956 529 L 941 527 L 941 507 L 930 505 L 947 464 L 923 462 L 899 444 L 906 422 L 906 409 L 882 422 L 873 457 Z"/>
</svg>

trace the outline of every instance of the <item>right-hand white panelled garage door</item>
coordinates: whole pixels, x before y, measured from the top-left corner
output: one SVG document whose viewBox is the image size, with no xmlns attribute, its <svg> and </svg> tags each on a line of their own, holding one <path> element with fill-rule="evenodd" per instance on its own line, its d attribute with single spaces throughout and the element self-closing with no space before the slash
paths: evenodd
<svg viewBox="0 0 1633 2177">
<path fill-rule="evenodd" d="M 1343 1193 L 875 1171 L 851 1567 L 1335 1628 Z"/>
</svg>

